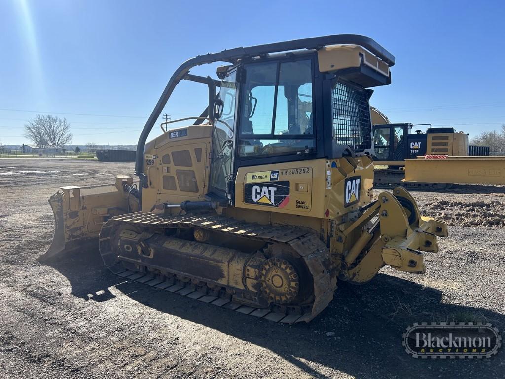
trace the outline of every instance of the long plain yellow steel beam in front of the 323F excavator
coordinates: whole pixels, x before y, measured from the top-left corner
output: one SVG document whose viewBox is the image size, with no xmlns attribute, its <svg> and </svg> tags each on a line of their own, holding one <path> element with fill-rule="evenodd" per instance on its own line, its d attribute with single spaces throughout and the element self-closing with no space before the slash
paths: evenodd
<svg viewBox="0 0 505 379">
<path fill-rule="evenodd" d="M 406 182 L 505 184 L 505 157 L 405 160 Z"/>
</svg>

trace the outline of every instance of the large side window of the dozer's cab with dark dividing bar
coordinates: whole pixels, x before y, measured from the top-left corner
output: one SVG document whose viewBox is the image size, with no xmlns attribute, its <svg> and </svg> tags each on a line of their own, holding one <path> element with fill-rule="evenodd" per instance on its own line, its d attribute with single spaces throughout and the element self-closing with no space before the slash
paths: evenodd
<svg viewBox="0 0 505 379">
<path fill-rule="evenodd" d="M 312 61 L 245 66 L 238 156 L 315 151 Z"/>
</svg>

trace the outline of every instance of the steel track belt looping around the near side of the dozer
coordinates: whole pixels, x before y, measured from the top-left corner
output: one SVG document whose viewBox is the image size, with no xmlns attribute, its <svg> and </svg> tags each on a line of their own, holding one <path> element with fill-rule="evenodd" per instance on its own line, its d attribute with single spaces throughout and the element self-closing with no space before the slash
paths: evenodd
<svg viewBox="0 0 505 379">
<path fill-rule="evenodd" d="M 210 287 L 197 286 L 190 278 L 182 280 L 173 277 L 156 277 L 153 274 L 126 270 L 114 254 L 111 245 L 111 232 L 117 223 L 127 223 L 140 227 L 191 228 L 199 227 L 219 233 L 232 233 L 246 239 L 260 240 L 265 243 L 280 243 L 289 245 L 305 262 L 314 281 L 314 302 L 310 311 L 305 313 L 289 313 L 294 307 L 273 306 L 271 309 L 255 308 L 238 304 L 225 291 L 216 292 Z M 219 215 L 185 215 L 164 216 L 155 213 L 136 212 L 116 216 L 108 220 L 99 235 L 100 254 L 105 265 L 119 276 L 136 280 L 141 283 L 167 290 L 179 295 L 222 306 L 239 313 L 265 318 L 274 322 L 294 323 L 310 321 L 325 309 L 333 299 L 336 289 L 336 273 L 326 245 L 309 229 L 292 226 L 272 226 L 226 218 Z"/>
</svg>

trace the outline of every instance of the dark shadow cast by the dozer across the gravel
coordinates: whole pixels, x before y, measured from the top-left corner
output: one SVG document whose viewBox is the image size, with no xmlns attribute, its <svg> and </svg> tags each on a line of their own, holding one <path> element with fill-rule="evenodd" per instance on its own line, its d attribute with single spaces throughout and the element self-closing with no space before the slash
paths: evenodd
<svg viewBox="0 0 505 379">
<path fill-rule="evenodd" d="M 98 249 L 68 253 L 45 264 L 68 278 L 75 296 L 107 300 L 107 294 L 114 296 L 108 288 L 115 287 L 146 307 L 266 348 L 314 377 L 332 377 L 325 373 L 328 369 L 357 378 L 468 377 L 473 370 L 483 377 L 502 377 L 505 371 L 501 352 L 490 360 L 409 356 L 401 346 L 401 335 L 414 322 L 485 320 L 503 330 L 505 315 L 444 304 L 441 291 L 386 274 L 363 286 L 340 283 L 334 300 L 316 319 L 287 325 L 118 277 L 103 266 Z"/>
</svg>

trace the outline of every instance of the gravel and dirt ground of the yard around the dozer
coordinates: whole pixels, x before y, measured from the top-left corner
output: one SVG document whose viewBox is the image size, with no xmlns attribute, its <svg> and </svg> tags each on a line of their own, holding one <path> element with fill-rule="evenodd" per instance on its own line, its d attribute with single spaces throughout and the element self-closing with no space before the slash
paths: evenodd
<svg viewBox="0 0 505 379">
<path fill-rule="evenodd" d="M 426 254 L 426 274 L 384 268 L 367 285 L 340 283 L 319 317 L 289 326 L 119 278 L 96 247 L 38 262 L 59 185 L 132 172 L 133 163 L 0 160 L 2 377 L 505 377 L 502 351 L 421 360 L 401 346 L 413 322 L 483 320 L 504 333 L 505 187 L 414 192 L 422 213 L 451 225 Z"/>
</svg>

